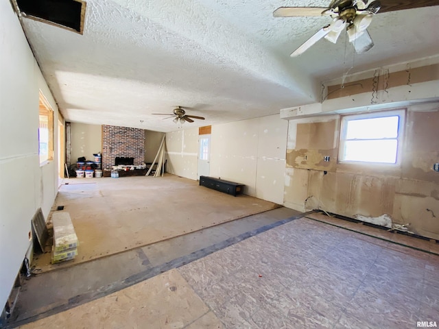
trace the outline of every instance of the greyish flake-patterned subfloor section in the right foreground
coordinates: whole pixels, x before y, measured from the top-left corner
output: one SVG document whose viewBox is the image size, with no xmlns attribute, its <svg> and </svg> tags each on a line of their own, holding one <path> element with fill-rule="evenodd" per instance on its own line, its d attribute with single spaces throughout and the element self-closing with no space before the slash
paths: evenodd
<svg viewBox="0 0 439 329">
<path fill-rule="evenodd" d="M 438 321 L 439 256 L 302 218 L 178 269 L 226 328 Z"/>
</svg>

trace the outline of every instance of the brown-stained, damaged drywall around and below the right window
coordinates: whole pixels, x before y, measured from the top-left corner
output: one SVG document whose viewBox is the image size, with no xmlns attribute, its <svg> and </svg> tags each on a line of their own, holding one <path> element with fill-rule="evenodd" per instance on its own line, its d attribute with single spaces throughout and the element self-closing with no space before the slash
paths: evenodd
<svg viewBox="0 0 439 329">
<path fill-rule="evenodd" d="M 439 103 L 407 108 L 402 162 L 392 167 L 337 163 L 337 115 L 289 121 L 285 206 L 320 208 L 385 226 L 389 220 L 410 223 L 411 232 L 439 239 L 439 173 L 433 170 L 439 162 L 438 122 Z M 310 139 L 307 132 L 313 130 Z M 334 158 L 322 167 L 319 159 L 331 144 Z M 304 160 L 305 154 L 312 154 L 311 160 Z"/>
</svg>

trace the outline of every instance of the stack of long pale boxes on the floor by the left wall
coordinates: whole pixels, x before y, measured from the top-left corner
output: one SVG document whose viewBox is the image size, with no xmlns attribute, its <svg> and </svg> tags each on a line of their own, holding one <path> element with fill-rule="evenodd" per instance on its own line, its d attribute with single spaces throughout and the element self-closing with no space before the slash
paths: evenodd
<svg viewBox="0 0 439 329">
<path fill-rule="evenodd" d="M 54 212 L 54 245 L 52 246 L 52 264 L 71 260 L 78 255 L 78 236 L 71 223 L 69 212 Z"/>
</svg>

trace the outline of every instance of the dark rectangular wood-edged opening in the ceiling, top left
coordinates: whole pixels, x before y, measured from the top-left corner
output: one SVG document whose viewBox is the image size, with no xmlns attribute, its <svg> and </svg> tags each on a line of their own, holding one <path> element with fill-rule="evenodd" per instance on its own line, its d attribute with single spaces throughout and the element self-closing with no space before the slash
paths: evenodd
<svg viewBox="0 0 439 329">
<path fill-rule="evenodd" d="M 20 16 L 68 29 L 84 31 L 85 1 L 80 0 L 15 0 Z"/>
</svg>

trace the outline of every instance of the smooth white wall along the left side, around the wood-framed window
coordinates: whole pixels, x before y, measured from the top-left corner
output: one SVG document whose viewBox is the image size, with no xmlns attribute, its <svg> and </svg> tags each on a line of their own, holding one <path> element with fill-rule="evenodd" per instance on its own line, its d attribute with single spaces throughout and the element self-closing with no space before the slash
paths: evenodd
<svg viewBox="0 0 439 329">
<path fill-rule="evenodd" d="M 39 90 L 58 109 L 9 1 L 0 2 L 0 308 L 3 308 L 29 248 L 31 219 L 47 219 L 58 188 L 58 129 L 54 160 L 38 158 Z"/>
</svg>

